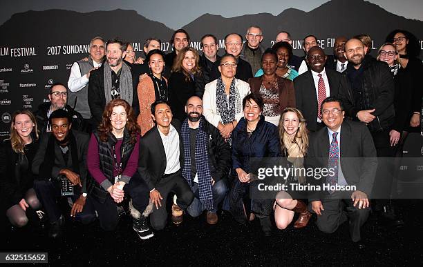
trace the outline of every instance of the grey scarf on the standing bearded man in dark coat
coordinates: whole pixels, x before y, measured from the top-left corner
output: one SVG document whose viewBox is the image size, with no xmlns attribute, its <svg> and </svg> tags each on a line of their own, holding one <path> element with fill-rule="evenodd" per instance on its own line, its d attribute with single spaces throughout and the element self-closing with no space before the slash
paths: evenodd
<svg viewBox="0 0 423 267">
<path fill-rule="evenodd" d="M 104 95 L 106 96 L 106 103 L 109 103 L 111 98 L 111 68 L 107 61 L 104 62 Z M 122 70 L 120 72 L 119 88 L 120 88 L 120 99 L 126 100 L 129 105 L 132 105 L 133 88 L 132 88 L 132 75 L 131 69 L 122 62 Z"/>
</svg>

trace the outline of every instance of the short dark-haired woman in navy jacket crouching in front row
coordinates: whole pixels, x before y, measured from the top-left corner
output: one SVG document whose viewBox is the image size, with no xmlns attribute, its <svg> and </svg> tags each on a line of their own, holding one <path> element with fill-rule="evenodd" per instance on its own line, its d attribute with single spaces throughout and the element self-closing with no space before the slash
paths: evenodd
<svg viewBox="0 0 423 267">
<path fill-rule="evenodd" d="M 250 94 L 243 99 L 244 118 L 232 132 L 232 168 L 238 179 L 234 179 L 228 199 L 229 211 L 236 221 L 245 224 L 247 218 L 251 220 L 256 215 L 263 233 L 268 236 L 272 232 L 272 199 L 249 199 L 250 182 L 254 183 L 250 177 L 250 158 L 281 157 L 278 129 L 265 121 L 261 114 L 263 106 L 260 95 Z M 245 199 L 247 201 L 243 201 Z"/>
</svg>

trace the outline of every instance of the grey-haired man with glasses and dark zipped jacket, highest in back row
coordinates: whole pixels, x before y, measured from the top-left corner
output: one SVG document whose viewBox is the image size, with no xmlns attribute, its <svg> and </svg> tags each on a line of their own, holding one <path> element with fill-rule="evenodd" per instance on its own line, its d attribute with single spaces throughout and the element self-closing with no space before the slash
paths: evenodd
<svg viewBox="0 0 423 267">
<path fill-rule="evenodd" d="M 250 26 L 245 34 L 247 39 L 247 46 L 244 46 L 241 57 L 250 63 L 253 75 L 261 68 L 261 55 L 265 48 L 260 46 L 263 41 L 263 32 L 259 26 Z"/>
</svg>

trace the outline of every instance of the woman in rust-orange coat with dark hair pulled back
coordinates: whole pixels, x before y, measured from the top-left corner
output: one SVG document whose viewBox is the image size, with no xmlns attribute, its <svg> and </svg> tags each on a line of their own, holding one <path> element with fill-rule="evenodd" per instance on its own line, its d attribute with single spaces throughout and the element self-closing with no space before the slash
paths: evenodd
<svg viewBox="0 0 423 267">
<path fill-rule="evenodd" d="M 140 102 L 140 115 L 137 122 L 141 128 L 141 135 L 145 135 L 154 126 L 151 118 L 151 104 L 158 100 L 167 101 L 167 79 L 162 76 L 164 70 L 164 52 L 160 49 L 151 50 L 147 54 L 150 73 L 140 76 L 138 83 L 138 101 Z"/>
</svg>

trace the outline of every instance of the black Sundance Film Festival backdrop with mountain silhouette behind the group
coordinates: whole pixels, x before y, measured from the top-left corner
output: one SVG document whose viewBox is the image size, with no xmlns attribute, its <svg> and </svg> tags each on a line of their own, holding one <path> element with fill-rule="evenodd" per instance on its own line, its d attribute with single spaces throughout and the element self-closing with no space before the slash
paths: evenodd
<svg viewBox="0 0 423 267">
<path fill-rule="evenodd" d="M 328 55 L 332 55 L 334 39 L 339 35 L 369 34 L 375 49 L 395 28 L 409 30 L 419 39 L 423 37 L 423 21 L 397 16 L 361 0 L 332 0 L 310 12 L 290 8 L 276 16 L 261 13 L 224 18 L 203 14 L 182 28 L 191 35 L 191 46 L 198 50 L 203 34 L 215 34 L 222 54 L 223 37 L 229 32 L 245 34 L 250 25 L 261 26 L 265 47 L 272 46 L 280 30 L 291 32 L 296 55 L 303 55 L 302 39 L 307 34 L 316 35 Z M 40 103 L 48 101 L 51 84 L 67 83 L 73 62 L 88 55 L 92 37 L 118 36 L 131 41 L 140 57 L 144 56 L 142 46 L 148 37 L 161 39 L 162 50 L 169 52 L 172 32 L 163 23 L 146 19 L 134 10 L 45 10 L 12 15 L 0 26 L 0 138 L 8 136 L 12 112 L 22 108 L 36 110 Z M 420 46 L 423 48 L 422 41 Z"/>
</svg>

